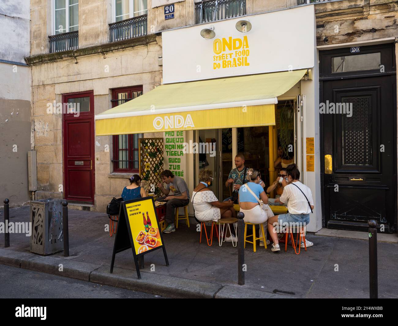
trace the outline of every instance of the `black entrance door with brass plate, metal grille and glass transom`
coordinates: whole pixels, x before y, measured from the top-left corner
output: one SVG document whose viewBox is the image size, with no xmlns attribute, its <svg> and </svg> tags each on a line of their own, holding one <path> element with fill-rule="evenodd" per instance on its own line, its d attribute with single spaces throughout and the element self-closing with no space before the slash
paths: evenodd
<svg viewBox="0 0 398 326">
<path fill-rule="evenodd" d="M 392 45 L 320 52 L 324 226 L 396 232 L 396 76 Z M 322 148 L 323 147 L 323 148 Z"/>
</svg>

